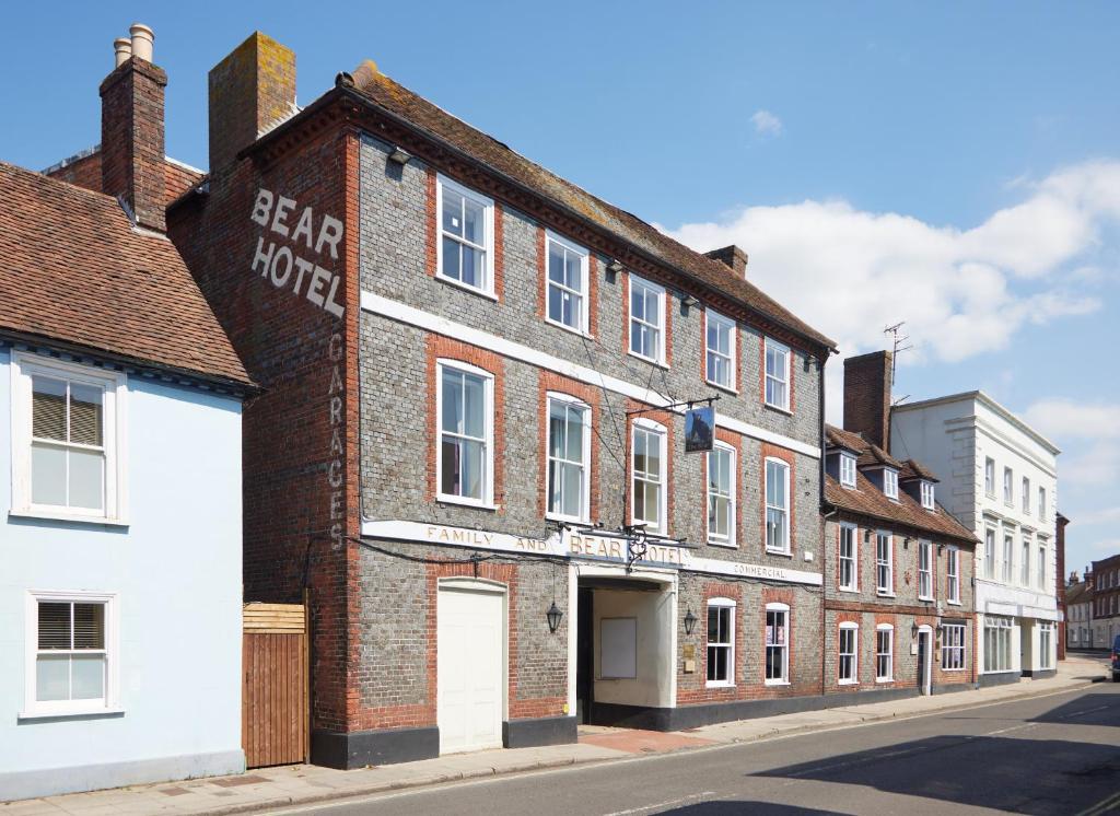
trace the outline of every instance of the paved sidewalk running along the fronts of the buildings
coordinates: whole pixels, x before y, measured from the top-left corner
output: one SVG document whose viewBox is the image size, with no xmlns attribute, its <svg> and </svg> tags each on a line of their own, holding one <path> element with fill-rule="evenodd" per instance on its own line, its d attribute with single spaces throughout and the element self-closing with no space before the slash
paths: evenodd
<svg viewBox="0 0 1120 816">
<path fill-rule="evenodd" d="M 1100 659 L 1074 656 L 1058 663 L 1054 677 L 1024 679 L 1016 684 L 976 691 L 741 720 L 690 729 L 688 732 L 662 733 L 591 726 L 581 729 L 579 742 L 573 744 L 451 754 L 352 771 L 309 765 L 259 768 L 232 777 L 132 786 L 0 804 L 0 816 L 221 815 L 315 806 L 463 780 L 486 780 L 566 766 L 618 763 L 643 757 L 653 759 L 669 754 L 683 756 L 778 737 L 928 716 L 1086 690 L 1104 676 L 1104 664 Z"/>
</svg>

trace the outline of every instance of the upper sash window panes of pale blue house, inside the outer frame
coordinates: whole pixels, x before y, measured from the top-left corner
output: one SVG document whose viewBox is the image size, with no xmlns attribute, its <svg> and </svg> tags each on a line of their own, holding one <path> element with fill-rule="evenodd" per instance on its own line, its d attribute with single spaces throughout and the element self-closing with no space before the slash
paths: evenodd
<svg viewBox="0 0 1120 816">
<path fill-rule="evenodd" d="M 105 509 L 104 390 L 31 377 L 31 504 Z"/>
</svg>

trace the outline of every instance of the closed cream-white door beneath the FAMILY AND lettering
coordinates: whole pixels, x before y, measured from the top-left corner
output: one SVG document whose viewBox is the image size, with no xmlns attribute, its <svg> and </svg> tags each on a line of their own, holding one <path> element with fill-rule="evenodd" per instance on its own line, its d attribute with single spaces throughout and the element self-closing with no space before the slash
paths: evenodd
<svg viewBox="0 0 1120 816">
<path fill-rule="evenodd" d="M 438 603 L 439 751 L 501 748 L 504 598 L 440 588 Z"/>
</svg>

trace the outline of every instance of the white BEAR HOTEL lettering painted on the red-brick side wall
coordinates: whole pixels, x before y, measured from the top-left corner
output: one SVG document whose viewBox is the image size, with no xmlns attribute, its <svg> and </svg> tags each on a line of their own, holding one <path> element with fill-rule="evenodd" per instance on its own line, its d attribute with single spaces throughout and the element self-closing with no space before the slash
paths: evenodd
<svg viewBox="0 0 1120 816">
<path fill-rule="evenodd" d="M 319 265 L 327 257 L 338 260 L 338 244 L 345 229 L 343 222 L 327 215 L 316 216 L 311 207 L 304 207 L 299 215 L 296 199 L 274 195 L 261 187 L 256 191 L 251 218 L 279 236 L 268 241 L 256 240 L 252 271 L 260 271 L 277 289 L 291 289 L 311 303 L 342 318 L 346 309 L 338 302 L 339 275 Z M 297 254 L 301 253 L 301 254 Z M 308 254 L 318 257 L 308 260 Z"/>
</svg>

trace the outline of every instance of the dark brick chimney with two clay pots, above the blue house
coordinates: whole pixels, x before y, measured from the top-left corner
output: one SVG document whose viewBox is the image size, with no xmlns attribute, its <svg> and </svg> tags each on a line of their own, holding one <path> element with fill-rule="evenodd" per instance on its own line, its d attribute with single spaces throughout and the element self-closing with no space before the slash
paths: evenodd
<svg viewBox="0 0 1120 816">
<path fill-rule="evenodd" d="M 165 232 L 167 74 L 151 63 L 151 29 L 138 22 L 129 30 L 129 48 L 113 44 L 118 66 L 101 83 L 101 190 L 123 200 L 141 226 Z"/>
</svg>

